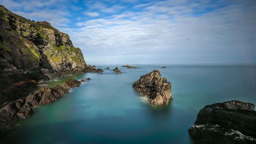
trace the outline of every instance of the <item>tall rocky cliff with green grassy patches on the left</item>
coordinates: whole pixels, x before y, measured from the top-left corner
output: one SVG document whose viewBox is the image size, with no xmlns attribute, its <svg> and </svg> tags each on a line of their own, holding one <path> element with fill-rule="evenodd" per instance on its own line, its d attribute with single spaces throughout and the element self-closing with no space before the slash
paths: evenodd
<svg viewBox="0 0 256 144">
<path fill-rule="evenodd" d="M 68 34 L 0 5 L 0 104 L 35 90 L 40 79 L 84 72 L 102 70 L 86 65 Z"/>
</svg>

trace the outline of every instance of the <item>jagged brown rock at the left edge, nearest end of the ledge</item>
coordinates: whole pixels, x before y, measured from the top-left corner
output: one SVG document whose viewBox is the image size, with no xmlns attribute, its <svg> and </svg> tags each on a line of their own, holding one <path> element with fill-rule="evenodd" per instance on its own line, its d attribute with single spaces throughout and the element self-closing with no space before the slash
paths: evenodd
<svg viewBox="0 0 256 144">
<path fill-rule="evenodd" d="M 10 125 L 18 119 L 25 119 L 32 113 L 30 103 L 25 99 L 18 99 L 10 102 L 0 109 L 0 130 L 9 129 Z"/>
</svg>

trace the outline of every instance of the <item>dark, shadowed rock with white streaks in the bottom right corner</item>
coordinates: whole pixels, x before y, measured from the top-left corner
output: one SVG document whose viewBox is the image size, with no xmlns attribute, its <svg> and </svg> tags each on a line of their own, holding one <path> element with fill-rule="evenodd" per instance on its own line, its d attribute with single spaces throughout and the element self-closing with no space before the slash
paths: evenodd
<svg viewBox="0 0 256 144">
<path fill-rule="evenodd" d="M 207 105 L 189 133 L 195 143 L 256 143 L 254 105 L 237 100 Z"/>
</svg>

